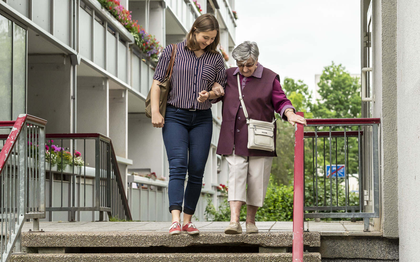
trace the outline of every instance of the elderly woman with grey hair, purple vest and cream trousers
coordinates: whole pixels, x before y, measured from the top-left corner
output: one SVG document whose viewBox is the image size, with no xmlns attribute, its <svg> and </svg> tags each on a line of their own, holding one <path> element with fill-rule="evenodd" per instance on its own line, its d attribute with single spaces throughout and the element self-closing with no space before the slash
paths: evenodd
<svg viewBox="0 0 420 262">
<path fill-rule="evenodd" d="M 262 207 L 270 178 L 271 164 L 276 154 L 276 132 L 274 132 L 274 151 L 249 149 L 247 118 L 239 99 L 244 101 L 249 119 L 273 122 L 274 112 L 294 125 L 306 125 L 303 117 L 295 114 L 295 109 L 280 86 L 278 74 L 263 67 L 258 62 L 258 47 L 255 42 L 245 41 L 232 52 L 238 67 L 226 70 L 224 96 L 213 100 L 222 101 L 222 125 L 217 154 L 226 156 L 229 163 L 228 201 L 231 208 L 231 222 L 226 234 L 242 233 L 239 211 L 247 205 L 247 233 L 258 233 L 255 214 Z M 216 95 L 223 95 L 219 87 L 213 87 Z M 274 130 L 276 125 L 274 125 Z"/>
</svg>

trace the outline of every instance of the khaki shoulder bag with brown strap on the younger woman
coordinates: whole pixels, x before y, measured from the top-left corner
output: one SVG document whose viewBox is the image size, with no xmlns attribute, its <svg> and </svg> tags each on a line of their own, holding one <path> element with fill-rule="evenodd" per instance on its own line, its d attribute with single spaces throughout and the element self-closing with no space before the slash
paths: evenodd
<svg viewBox="0 0 420 262">
<path fill-rule="evenodd" d="M 168 94 L 169 90 L 171 89 L 171 76 L 172 76 L 172 70 L 173 70 L 173 64 L 175 63 L 175 57 L 176 57 L 176 44 L 172 44 L 172 54 L 171 54 L 171 60 L 169 61 L 168 69 L 165 73 L 165 79 L 160 83 L 160 98 L 159 98 L 159 112 L 162 115 L 162 117 L 165 117 L 166 112 L 166 104 L 168 103 Z M 150 92 L 152 89 L 150 89 L 149 94 L 147 95 L 146 99 L 146 116 L 149 118 L 152 118 L 152 106 L 150 104 Z"/>
</svg>

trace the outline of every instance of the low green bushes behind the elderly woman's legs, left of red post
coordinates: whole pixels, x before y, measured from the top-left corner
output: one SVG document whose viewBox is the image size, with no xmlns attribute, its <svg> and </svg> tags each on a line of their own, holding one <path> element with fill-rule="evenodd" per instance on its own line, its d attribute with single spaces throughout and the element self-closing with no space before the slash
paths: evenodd
<svg viewBox="0 0 420 262">
<path fill-rule="evenodd" d="M 231 210 L 227 199 L 216 209 L 211 199 L 207 199 L 205 209 L 207 221 L 229 221 Z M 241 208 L 240 220 L 245 221 L 247 208 Z M 255 215 L 256 221 L 291 221 L 293 218 L 293 187 L 278 184 L 270 177 L 267 194 L 265 195 L 264 206 L 258 208 Z"/>
</svg>

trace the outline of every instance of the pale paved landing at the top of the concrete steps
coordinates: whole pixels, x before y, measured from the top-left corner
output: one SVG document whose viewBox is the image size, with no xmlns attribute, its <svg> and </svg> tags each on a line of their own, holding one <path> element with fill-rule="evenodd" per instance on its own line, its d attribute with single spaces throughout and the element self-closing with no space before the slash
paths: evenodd
<svg viewBox="0 0 420 262">
<path fill-rule="evenodd" d="M 223 232 L 228 226 L 228 222 L 194 222 L 200 231 Z M 245 222 L 242 222 L 242 228 L 245 228 Z M 260 232 L 281 232 L 292 231 L 293 222 L 257 222 Z M 156 231 L 167 232 L 170 222 L 40 222 L 39 228 L 48 232 L 71 232 L 71 231 Z M 25 222 L 23 231 L 31 229 L 32 222 Z M 309 231 L 319 231 L 321 235 L 339 235 L 339 236 L 380 236 L 379 231 L 363 232 L 363 222 L 305 222 L 304 229 Z"/>
</svg>

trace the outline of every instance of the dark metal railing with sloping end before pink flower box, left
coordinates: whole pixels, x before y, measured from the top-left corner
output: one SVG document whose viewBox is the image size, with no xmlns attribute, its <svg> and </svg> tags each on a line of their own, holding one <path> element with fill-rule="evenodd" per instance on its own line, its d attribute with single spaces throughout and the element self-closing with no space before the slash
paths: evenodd
<svg viewBox="0 0 420 262">
<path fill-rule="evenodd" d="M 52 220 L 54 211 L 68 211 L 69 221 L 76 221 L 76 212 L 80 220 L 83 211 L 91 211 L 93 220 L 95 220 L 95 211 L 99 211 L 100 221 L 105 220 L 105 212 L 108 213 L 109 218 L 132 220 L 109 137 L 99 133 L 76 133 L 47 134 L 46 138 L 48 141 L 55 140 L 55 144 L 60 146 L 49 142 L 51 148 L 46 156 L 50 193 L 46 210 L 49 212 L 49 220 Z M 78 149 L 83 148 L 82 153 L 76 151 L 76 146 Z M 65 148 L 72 153 L 65 151 Z M 58 156 L 58 159 L 55 156 Z M 67 162 L 67 165 L 66 159 L 70 162 Z M 94 161 L 94 169 L 87 167 L 87 161 L 90 160 Z M 89 175 L 89 171 L 93 175 Z M 92 205 L 89 205 L 91 196 L 86 194 L 89 191 L 87 190 L 89 179 L 92 180 L 94 186 Z M 57 180 L 60 185 L 60 197 L 54 195 L 57 191 L 53 187 Z M 68 195 L 65 195 L 66 192 Z M 64 201 L 65 198 L 68 203 Z M 60 200 L 60 202 L 58 205 L 53 205 L 53 200 Z"/>
</svg>

